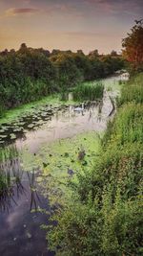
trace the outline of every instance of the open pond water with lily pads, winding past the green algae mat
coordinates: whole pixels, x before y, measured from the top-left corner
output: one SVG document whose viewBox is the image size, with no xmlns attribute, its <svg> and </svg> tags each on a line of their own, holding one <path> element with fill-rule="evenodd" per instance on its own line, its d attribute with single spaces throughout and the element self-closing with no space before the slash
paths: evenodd
<svg viewBox="0 0 143 256">
<path fill-rule="evenodd" d="M 103 81 L 103 102 L 85 103 L 84 109 L 81 105 L 44 105 L 38 111 L 35 108 L 32 115 L 21 115 L 11 124 L 1 125 L 0 145 L 6 152 L 0 162 L 0 178 L 7 181 L 0 189 L 1 256 L 54 255 L 47 248 L 46 232 L 40 228 L 49 223 L 51 206 L 37 182 L 42 168 L 34 157 L 44 145 L 51 147 L 60 139 L 104 131 L 111 118 L 111 98 L 119 94 L 118 81 L 122 80 L 128 80 L 127 75 Z"/>
</svg>

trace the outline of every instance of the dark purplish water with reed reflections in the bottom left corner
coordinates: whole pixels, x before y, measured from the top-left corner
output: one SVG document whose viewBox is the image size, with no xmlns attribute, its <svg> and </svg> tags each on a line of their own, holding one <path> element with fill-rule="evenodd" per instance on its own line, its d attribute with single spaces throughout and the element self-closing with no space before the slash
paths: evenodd
<svg viewBox="0 0 143 256">
<path fill-rule="evenodd" d="M 48 252 L 45 232 L 40 229 L 41 223 L 47 223 L 48 216 L 37 210 L 41 207 L 50 210 L 50 206 L 38 191 L 35 181 L 37 170 L 31 173 L 23 170 L 14 146 L 4 151 L 2 158 L 0 255 L 54 255 Z"/>
</svg>

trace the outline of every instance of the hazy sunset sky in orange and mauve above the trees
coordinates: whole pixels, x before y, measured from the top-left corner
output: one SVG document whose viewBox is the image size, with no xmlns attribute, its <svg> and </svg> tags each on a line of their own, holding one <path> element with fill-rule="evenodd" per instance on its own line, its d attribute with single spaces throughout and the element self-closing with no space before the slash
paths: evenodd
<svg viewBox="0 0 143 256">
<path fill-rule="evenodd" d="M 86 54 L 121 51 L 122 38 L 143 17 L 143 0 L 0 0 L 0 51 L 21 43 Z"/>
</svg>

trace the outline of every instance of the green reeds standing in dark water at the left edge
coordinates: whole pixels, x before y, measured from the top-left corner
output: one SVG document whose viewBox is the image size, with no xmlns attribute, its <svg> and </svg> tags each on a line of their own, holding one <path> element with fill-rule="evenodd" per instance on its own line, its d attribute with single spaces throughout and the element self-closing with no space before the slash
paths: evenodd
<svg viewBox="0 0 143 256">
<path fill-rule="evenodd" d="M 9 212 L 14 200 L 14 187 L 17 195 L 23 191 L 21 184 L 18 152 L 14 146 L 0 150 L 0 211 Z"/>
</svg>

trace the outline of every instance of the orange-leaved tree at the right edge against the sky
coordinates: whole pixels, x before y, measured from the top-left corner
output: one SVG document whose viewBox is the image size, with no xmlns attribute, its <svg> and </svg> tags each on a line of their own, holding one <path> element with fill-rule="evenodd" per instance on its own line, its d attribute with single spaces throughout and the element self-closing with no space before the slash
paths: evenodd
<svg viewBox="0 0 143 256">
<path fill-rule="evenodd" d="M 135 20 L 135 25 L 122 41 L 123 55 L 133 64 L 134 69 L 138 69 L 143 64 L 143 19 Z"/>
</svg>

